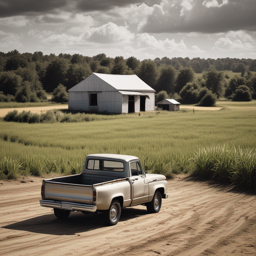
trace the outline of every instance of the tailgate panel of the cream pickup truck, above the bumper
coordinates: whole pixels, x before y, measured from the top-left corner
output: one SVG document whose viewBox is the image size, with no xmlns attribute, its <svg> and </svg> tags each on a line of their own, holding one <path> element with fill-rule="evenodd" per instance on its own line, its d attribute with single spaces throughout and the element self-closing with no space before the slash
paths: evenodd
<svg viewBox="0 0 256 256">
<path fill-rule="evenodd" d="M 92 204 L 93 189 L 90 185 L 45 181 L 45 199 Z"/>
</svg>

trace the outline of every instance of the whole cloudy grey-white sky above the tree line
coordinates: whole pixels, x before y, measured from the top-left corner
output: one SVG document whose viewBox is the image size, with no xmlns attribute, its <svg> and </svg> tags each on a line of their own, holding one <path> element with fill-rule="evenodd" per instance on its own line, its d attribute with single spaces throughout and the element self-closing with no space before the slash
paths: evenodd
<svg viewBox="0 0 256 256">
<path fill-rule="evenodd" d="M 256 0 L 0 0 L 0 51 L 256 59 Z"/>
</svg>

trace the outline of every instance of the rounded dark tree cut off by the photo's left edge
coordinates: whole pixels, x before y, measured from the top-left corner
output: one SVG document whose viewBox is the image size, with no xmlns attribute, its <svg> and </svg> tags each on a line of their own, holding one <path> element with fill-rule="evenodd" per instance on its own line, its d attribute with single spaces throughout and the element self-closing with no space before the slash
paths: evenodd
<svg viewBox="0 0 256 256">
<path fill-rule="evenodd" d="M 22 77 L 13 71 L 2 72 L 0 75 L 0 91 L 5 95 L 15 95 L 21 87 Z"/>
</svg>

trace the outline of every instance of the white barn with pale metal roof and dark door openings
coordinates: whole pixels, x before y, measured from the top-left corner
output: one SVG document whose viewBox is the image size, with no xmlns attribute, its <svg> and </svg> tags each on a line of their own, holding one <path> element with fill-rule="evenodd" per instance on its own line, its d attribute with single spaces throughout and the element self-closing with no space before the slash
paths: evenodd
<svg viewBox="0 0 256 256">
<path fill-rule="evenodd" d="M 155 90 L 136 75 L 93 73 L 68 93 L 69 110 L 116 114 L 155 110 Z"/>
</svg>

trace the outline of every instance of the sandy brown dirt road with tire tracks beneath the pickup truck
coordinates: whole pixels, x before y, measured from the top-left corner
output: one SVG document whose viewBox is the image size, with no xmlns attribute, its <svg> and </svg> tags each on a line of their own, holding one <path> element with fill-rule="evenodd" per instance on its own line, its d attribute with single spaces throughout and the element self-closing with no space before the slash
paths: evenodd
<svg viewBox="0 0 256 256">
<path fill-rule="evenodd" d="M 33 182 L 31 182 L 33 180 Z M 120 222 L 39 206 L 40 178 L 0 181 L 0 255 L 256 255 L 256 196 L 177 177 L 160 213 L 123 209 Z"/>
</svg>

